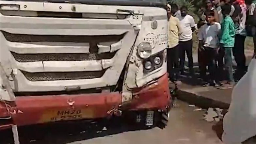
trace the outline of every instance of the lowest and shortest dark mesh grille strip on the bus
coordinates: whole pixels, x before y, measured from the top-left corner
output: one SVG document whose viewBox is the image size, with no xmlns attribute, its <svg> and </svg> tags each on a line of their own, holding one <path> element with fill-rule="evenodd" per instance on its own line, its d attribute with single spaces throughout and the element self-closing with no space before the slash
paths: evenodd
<svg viewBox="0 0 256 144">
<path fill-rule="evenodd" d="M 105 73 L 105 70 L 89 72 L 21 72 L 29 81 L 55 81 L 100 78 Z"/>
</svg>

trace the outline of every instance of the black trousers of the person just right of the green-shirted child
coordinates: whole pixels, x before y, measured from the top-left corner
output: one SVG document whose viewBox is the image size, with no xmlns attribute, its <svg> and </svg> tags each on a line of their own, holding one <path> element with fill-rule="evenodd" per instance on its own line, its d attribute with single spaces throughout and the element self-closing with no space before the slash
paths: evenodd
<svg viewBox="0 0 256 144">
<path fill-rule="evenodd" d="M 235 62 L 237 64 L 236 75 L 240 79 L 246 71 L 246 58 L 245 58 L 245 38 L 239 34 L 235 35 L 235 45 L 233 48 L 233 56 L 235 57 Z"/>
</svg>

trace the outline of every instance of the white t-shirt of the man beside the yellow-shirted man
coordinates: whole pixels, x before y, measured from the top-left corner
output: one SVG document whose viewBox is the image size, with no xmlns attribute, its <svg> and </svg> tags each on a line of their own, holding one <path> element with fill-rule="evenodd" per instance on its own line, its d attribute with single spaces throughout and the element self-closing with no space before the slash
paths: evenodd
<svg viewBox="0 0 256 144">
<path fill-rule="evenodd" d="M 183 33 L 180 35 L 179 40 L 180 41 L 188 41 L 192 40 L 192 29 L 191 27 L 195 26 L 195 20 L 191 15 L 186 15 L 184 17 L 177 16 L 177 18 L 180 20 L 180 24 L 182 26 Z"/>
</svg>

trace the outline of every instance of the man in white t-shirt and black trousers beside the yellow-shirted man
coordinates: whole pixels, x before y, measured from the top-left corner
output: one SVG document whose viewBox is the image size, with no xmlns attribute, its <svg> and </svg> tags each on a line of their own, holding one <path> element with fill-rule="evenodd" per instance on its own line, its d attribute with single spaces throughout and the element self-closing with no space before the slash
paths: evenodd
<svg viewBox="0 0 256 144">
<path fill-rule="evenodd" d="M 177 16 L 180 20 L 183 33 L 179 36 L 179 55 L 180 55 L 180 71 L 184 75 L 184 63 L 185 63 L 185 53 L 188 58 L 188 67 L 189 73 L 194 75 L 193 70 L 193 56 L 192 56 L 192 47 L 193 47 L 193 34 L 195 31 L 195 20 L 192 16 L 187 14 L 187 7 L 181 7 L 181 15 Z"/>
</svg>

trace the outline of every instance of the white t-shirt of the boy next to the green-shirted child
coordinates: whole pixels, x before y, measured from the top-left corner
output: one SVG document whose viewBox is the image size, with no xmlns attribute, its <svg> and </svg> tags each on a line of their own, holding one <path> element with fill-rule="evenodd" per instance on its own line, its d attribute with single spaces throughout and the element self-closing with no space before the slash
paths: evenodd
<svg viewBox="0 0 256 144">
<path fill-rule="evenodd" d="M 213 25 L 204 24 L 198 33 L 198 39 L 203 41 L 203 46 L 210 48 L 219 47 L 219 34 L 221 25 L 214 23 Z"/>
</svg>

